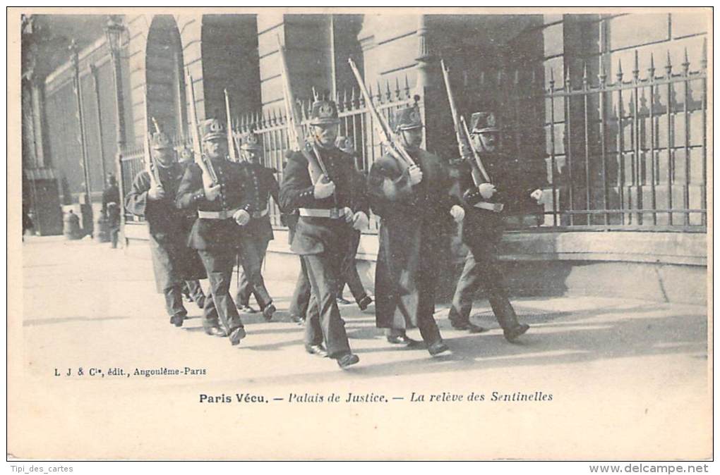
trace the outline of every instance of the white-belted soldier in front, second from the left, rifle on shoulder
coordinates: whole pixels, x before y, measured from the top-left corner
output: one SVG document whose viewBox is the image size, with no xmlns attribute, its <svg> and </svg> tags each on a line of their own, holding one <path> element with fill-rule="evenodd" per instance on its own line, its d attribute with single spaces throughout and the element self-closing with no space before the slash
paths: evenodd
<svg viewBox="0 0 720 475">
<path fill-rule="evenodd" d="M 237 345 L 245 338 L 243 322 L 230 296 L 230 279 L 240 248 L 240 228 L 250 221 L 251 198 L 245 193 L 245 173 L 238 163 L 228 160 L 225 124 L 209 119 L 201 125 L 202 147 L 217 175 L 217 183 L 203 177 L 204 171 L 192 163 L 185 170 L 177 193 L 181 209 L 197 209 L 188 245 L 197 249 L 207 277 L 210 297 L 203 309 L 203 327 L 209 335 L 228 336 Z M 218 318 L 222 329 L 218 325 Z"/>
</svg>

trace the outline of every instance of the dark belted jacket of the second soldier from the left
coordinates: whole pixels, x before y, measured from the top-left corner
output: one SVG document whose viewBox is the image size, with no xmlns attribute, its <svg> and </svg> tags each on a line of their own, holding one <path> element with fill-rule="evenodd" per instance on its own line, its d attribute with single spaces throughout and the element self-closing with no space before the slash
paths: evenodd
<svg viewBox="0 0 720 475">
<path fill-rule="evenodd" d="M 246 175 L 243 167 L 229 160 L 212 160 L 220 195 L 215 200 L 205 199 L 202 170 L 196 163 L 185 170 L 178 189 L 176 206 L 181 209 L 201 211 L 232 211 L 244 209 L 252 213 L 251 196 L 246 193 Z M 193 249 L 223 249 L 240 246 L 240 228 L 232 218 L 198 218 L 192 226 L 187 244 Z"/>
</svg>

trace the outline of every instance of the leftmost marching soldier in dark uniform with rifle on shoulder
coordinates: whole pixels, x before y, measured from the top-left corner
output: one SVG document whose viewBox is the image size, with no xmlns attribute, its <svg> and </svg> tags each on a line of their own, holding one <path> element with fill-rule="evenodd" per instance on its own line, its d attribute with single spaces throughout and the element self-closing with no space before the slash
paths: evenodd
<svg viewBox="0 0 720 475">
<path fill-rule="evenodd" d="M 153 183 L 146 170 L 138 173 L 132 190 L 125 196 L 125 208 L 136 216 L 144 216 L 148 223 L 157 289 L 165 295 L 170 323 L 182 326 L 187 315 L 182 303 L 182 282 L 204 279 L 205 272 L 197 252 L 186 244 L 188 218 L 175 207 L 184 167 L 176 161 L 166 134 L 153 134 L 151 153 L 160 183 Z"/>
</svg>

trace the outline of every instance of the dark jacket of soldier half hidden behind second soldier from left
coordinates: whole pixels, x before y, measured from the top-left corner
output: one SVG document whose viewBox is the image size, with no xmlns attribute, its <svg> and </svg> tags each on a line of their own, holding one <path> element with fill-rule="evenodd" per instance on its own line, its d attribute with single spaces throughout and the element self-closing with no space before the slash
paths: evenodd
<svg viewBox="0 0 720 475">
<path fill-rule="evenodd" d="M 246 175 L 246 193 L 248 193 L 253 210 L 256 212 L 269 210 L 270 197 L 275 200 L 275 203 L 280 202 L 280 186 L 275 180 L 274 168 L 248 162 L 241 162 L 240 165 Z M 252 218 L 242 229 L 243 233 L 262 241 L 270 241 L 274 237 L 269 213 L 261 218 Z"/>
</svg>

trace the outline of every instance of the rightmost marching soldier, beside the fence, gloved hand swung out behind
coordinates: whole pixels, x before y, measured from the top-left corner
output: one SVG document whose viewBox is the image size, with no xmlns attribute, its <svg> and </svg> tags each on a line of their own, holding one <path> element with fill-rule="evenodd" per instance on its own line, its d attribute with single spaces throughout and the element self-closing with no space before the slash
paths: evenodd
<svg viewBox="0 0 720 475">
<path fill-rule="evenodd" d="M 496 262 L 497 246 L 503 236 L 503 214 L 527 209 L 541 199 L 540 176 L 527 169 L 527 162 L 499 152 L 495 115 L 476 112 L 470 119 L 472 147 L 482 159 L 491 183 L 475 185 L 472 167 L 474 157 L 459 165 L 460 188 L 466 209 L 462 241 L 469 248 L 465 267 L 457 282 L 449 319 L 454 328 L 479 333 L 485 329 L 471 323 L 472 298 L 483 287 L 490 306 L 508 341 L 513 341 L 530 328 L 518 323 L 503 285 L 503 275 Z M 477 175 L 477 172 L 476 172 Z M 479 176 L 479 175 L 477 175 Z"/>
</svg>

